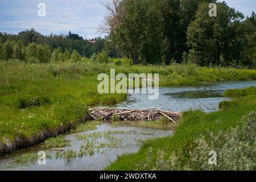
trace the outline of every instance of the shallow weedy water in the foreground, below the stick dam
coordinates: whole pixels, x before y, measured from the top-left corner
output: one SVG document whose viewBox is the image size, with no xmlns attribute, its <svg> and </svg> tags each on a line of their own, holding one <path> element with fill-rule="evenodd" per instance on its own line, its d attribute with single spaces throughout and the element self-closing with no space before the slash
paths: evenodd
<svg viewBox="0 0 256 182">
<path fill-rule="evenodd" d="M 133 153 L 139 150 L 143 140 L 171 136 L 172 131 L 165 130 L 154 130 L 154 129 L 144 129 L 139 127 L 111 127 L 109 123 L 104 123 L 98 126 L 97 130 L 87 131 L 83 133 L 67 134 L 65 138 L 71 140 L 71 146 L 61 148 L 63 150 L 73 150 L 79 151 L 80 146 L 85 144 L 83 140 L 78 140 L 77 135 L 84 135 L 94 132 L 100 132 L 104 134 L 106 131 L 114 131 L 110 135 L 118 139 L 122 139 L 122 144 L 117 147 L 105 147 L 101 148 L 104 154 L 94 154 L 83 156 L 82 158 L 75 158 L 71 161 L 65 159 L 56 159 L 54 150 L 49 150 L 39 144 L 38 146 L 26 148 L 26 150 L 20 150 L 16 154 L 6 156 L 0 160 L 0 170 L 102 170 L 109 166 L 110 163 L 117 159 L 117 156 Z M 98 138 L 98 142 L 105 142 L 104 137 Z M 35 160 L 35 163 L 30 165 L 18 166 L 13 163 L 13 159 L 17 155 L 27 154 L 28 152 L 34 152 L 37 154 L 39 151 L 46 151 L 47 155 L 51 155 L 52 159 L 46 160 L 46 165 L 39 165 Z"/>
</svg>

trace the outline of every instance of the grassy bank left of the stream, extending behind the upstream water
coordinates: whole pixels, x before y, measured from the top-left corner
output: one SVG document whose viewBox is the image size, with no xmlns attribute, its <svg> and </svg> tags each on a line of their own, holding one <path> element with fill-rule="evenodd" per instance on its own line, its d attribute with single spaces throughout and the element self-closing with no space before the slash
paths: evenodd
<svg viewBox="0 0 256 182">
<path fill-rule="evenodd" d="M 0 61 L 0 146 L 12 151 L 64 133 L 88 116 L 88 106 L 114 105 L 126 94 L 98 94 L 98 73 L 160 73 L 160 85 L 251 80 L 256 71 L 194 64 L 131 66 L 92 63 L 27 64 Z M 16 149 L 15 148 L 15 149 Z M 0 147 L 1 154 L 5 153 Z"/>
</svg>

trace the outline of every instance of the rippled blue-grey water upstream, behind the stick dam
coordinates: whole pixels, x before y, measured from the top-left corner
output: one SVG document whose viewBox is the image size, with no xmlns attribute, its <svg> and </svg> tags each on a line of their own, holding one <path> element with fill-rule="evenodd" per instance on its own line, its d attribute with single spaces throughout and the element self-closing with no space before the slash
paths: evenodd
<svg viewBox="0 0 256 182">
<path fill-rule="evenodd" d="M 201 109 L 209 113 L 218 110 L 221 101 L 229 100 L 222 94 L 228 89 L 256 86 L 256 81 L 217 82 L 200 86 L 160 87 L 158 100 L 147 100 L 147 94 L 130 94 L 128 101 L 117 105 L 121 109 L 155 107 L 160 110 L 185 111 Z"/>
</svg>

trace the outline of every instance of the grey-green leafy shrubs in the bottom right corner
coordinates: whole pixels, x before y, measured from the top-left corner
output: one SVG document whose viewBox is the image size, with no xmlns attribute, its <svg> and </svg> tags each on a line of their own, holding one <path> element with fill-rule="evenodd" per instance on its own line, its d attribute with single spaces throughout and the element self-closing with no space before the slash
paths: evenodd
<svg viewBox="0 0 256 182">
<path fill-rule="evenodd" d="M 208 134 L 193 142 L 189 141 L 181 149 L 166 159 L 166 152 L 159 150 L 153 171 L 160 170 L 255 170 L 256 154 L 256 113 L 251 111 L 243 117 L 231 133 Z M 209 164 L 213 152 L 217 155 L 216 164 Z M 148 169 L 152 161 L 152 149 L 148 152 L 146 164 Z M 212 160 L 210 160 L 212 161 Z"/>
</svg>

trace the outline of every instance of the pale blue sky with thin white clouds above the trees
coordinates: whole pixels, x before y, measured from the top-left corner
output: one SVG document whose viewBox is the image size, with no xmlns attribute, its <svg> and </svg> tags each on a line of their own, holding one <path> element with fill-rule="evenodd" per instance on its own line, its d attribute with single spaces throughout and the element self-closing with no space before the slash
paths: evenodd
<svg viewBox="0 0 256 182">
<path fill-rule="evenodd" d="M 68 34 L 70 30 L 87 39 L 104 36 L 97 32 L 106 13 L 100 1 L 102 0 L 0 0 L 0 32 L 17 34 L 35 28 L 43 35 Z M 246 16 L 256 11 L 255 0 L 225 2 Z M 46 4 L 46 16 L 38 16 L 39 3 Z"/>
</svg>

